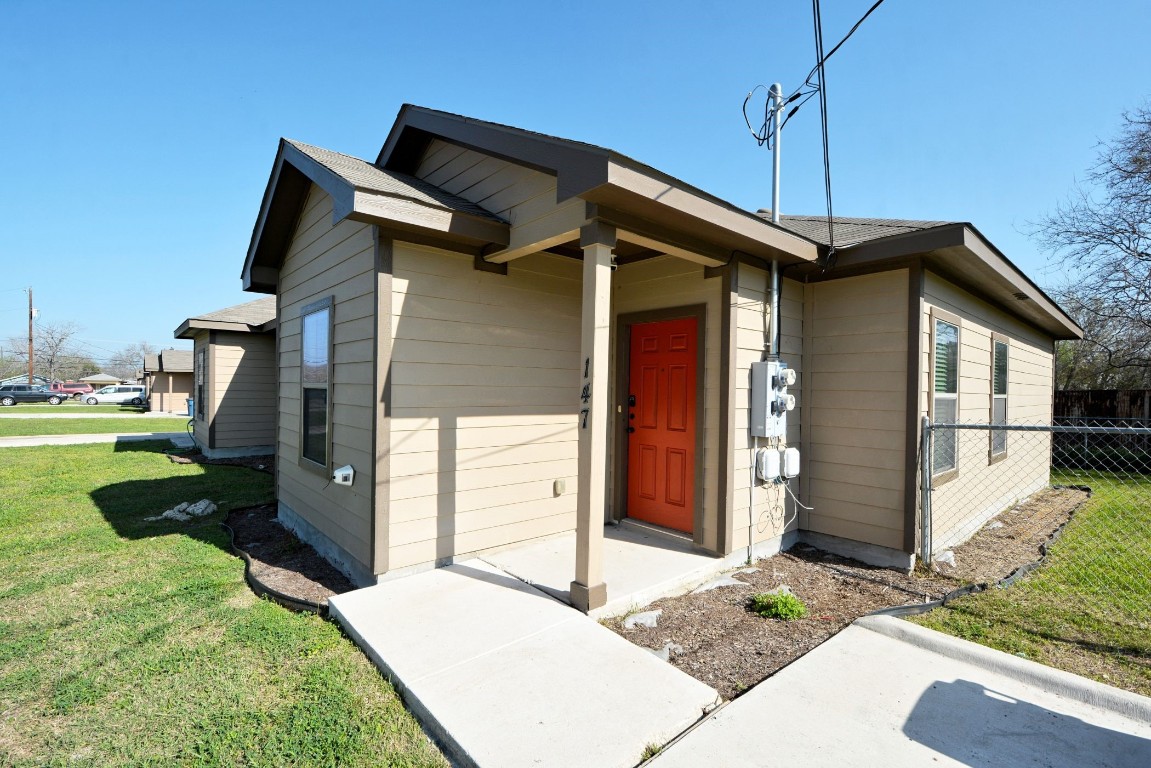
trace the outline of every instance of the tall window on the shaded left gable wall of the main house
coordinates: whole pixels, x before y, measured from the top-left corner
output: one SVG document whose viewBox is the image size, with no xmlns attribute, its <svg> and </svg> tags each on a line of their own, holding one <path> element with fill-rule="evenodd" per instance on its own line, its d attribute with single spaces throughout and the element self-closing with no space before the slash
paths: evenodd
<svg viewBox="0 0 1151 768">
<path fill-rule="evenodd" d="M 304 307 L 300 315 L 300 456 L 328 466 L 328 383 L 331 360 L 331 299 Z"/>
</svg>

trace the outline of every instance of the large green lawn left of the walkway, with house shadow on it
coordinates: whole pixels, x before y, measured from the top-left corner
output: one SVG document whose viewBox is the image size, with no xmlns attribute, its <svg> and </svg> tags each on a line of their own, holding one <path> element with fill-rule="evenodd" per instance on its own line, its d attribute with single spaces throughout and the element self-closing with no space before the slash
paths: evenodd
<svg viewBox="0 0 1151 768">
<path fill-rule="evenodd" d="M 0 450 L 0 766 L 445 765 L 336 625 L 249 591 L 219 522 L 272 478 L 161 449 Z"/>
</svg>

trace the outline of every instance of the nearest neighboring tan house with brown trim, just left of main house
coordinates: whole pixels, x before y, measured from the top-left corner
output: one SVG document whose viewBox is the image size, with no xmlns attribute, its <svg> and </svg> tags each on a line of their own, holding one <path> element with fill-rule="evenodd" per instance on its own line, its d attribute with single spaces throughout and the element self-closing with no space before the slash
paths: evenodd
<svg viewBox="0 0 1151 768">
<path fill-rule="evenodd" d="M 175 336 L 193 342 L 193 434 L 204 454 L 275 453 L 275 297 L 188 318 Z"/>
</svg>

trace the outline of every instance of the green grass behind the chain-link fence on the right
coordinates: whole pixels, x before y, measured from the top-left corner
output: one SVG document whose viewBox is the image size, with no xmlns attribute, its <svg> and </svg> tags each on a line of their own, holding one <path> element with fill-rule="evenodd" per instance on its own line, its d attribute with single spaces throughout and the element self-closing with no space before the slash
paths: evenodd
<svg viewBox="0 0 1151 768">
<path fill-rule="evenodd" d="M 1046 563 L 916 617 L 920 624 L 1151 695 L 1151 478 L 1066 472 L 1090 501 Z"/>
</svg>

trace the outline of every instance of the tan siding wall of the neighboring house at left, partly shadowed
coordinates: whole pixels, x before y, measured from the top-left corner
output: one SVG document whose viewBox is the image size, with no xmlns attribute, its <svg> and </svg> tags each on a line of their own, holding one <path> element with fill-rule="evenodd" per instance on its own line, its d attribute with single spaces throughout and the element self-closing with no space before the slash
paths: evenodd
<svg viewBox="0 0 1151 768">
<path fill-rule="evenodd" d="M 216 332 L 212 386 L 214 448 L 272 446 L 276 439 L 276 342 L 269 334 Z"/>
</svg>

